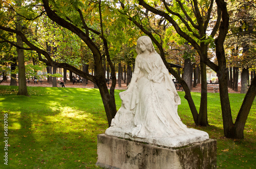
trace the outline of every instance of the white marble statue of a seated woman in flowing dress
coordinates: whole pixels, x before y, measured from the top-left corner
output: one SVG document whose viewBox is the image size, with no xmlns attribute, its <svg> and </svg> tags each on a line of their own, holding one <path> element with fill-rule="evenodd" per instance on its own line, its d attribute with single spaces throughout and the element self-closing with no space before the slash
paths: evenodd
<svg viewBox="0 0 256 169">
<path fill-rule="evenodd" d="M 152 41 L 137 41 L 134 74 L 121 92 L 121 108 L 105 134 L 160 146 L 180 147 L 208 139 L 204 131 L 187 128 L 177 113 L 180 97 Z"/>
</svg>

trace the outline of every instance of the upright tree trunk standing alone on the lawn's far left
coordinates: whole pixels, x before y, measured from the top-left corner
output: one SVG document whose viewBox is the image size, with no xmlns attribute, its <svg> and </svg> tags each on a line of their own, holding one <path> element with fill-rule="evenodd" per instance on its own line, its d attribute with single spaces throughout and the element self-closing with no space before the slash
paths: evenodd
<svg viewBox="0 0 256 169">
<path fill-rule="evenodd" d="M 20 2 L 18 2 L 19 4 Z M 16 25 L 16 30 L 22 31 L 22 25 L 19 21 L 19 16 L 17 16 L 18 23 Z M 16 35 L 17 45 L 23 47 L 22 38 L 19 35 Z M 27 90 L 27 81 L 26 81 L 26 68 L 25 68 L 25 55 L 24 50 L 16 48 L 18 55 L 18 93 L 17 95 L 29 96 Z"/>
</svg>

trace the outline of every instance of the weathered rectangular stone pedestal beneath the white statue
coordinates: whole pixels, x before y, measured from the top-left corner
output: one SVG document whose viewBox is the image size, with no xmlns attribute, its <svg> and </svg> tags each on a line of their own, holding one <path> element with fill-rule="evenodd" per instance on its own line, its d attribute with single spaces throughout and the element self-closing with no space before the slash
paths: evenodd
<svg viewBox="0 0 256 169">
<path fill-rule="evenodd" d="M 166 148 L 98 135 L 98 161 L 104 168 L 216 168 L 217 141 L 207 139 L 180 148 Z"/>
</svg>

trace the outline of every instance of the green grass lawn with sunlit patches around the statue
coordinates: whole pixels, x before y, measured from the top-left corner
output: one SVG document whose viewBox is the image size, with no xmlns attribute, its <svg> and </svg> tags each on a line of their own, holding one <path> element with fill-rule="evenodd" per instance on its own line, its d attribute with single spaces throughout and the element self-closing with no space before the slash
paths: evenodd
<svg viewBox="0 0 256 169">
<path fill-rule="evenodd" d="M 108 128 L 103 104 L 97 89 L 28 87 L 31 97 L 16 96 L 18 88 L 0 86 L 1 164 L 0 168 L 99 168 L 97 134 Z M 117 108 L 121 101 L 116 91 Z M 184 92 L 178 114 L 188 127 L 204 130 L 217 139 L 218 168 L 255 168 L 256 140 L 254 100 L 247 123 L 245 139 L 224 137 L 220 98 L 208 94 L 210 127 L 197 127 Z M 192 93 L 197 108 L 200 93 Z M 244 94 L 230 94 L 233 117 Z M 4 164 L 4 117 L 8 116 L 8 165 Z M 3 167 L 4 166 L 4 167 Z"/>
</svg>

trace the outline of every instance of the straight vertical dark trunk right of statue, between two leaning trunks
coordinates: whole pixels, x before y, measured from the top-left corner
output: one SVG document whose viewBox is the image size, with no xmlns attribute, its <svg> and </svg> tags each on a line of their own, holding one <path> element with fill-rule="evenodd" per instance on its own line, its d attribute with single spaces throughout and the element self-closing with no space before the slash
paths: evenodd
<svg viewBox="0 0 256 169">
<path fill-rule="evenodd" d="M 201 69 L 201 102 L 198 114 L 198 125 L 208 126 L 207 117 L 207 75 L 206 75 L 206 65 L 200 61 Z"/>
</svg>

